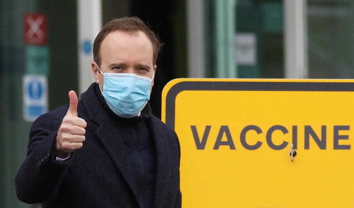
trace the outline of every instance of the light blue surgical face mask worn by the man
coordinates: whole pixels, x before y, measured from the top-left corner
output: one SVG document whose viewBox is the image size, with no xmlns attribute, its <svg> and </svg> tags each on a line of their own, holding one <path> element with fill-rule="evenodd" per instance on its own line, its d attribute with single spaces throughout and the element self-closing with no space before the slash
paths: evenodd
<svg viewBox="0 0 354 208">
<path fill-rule="evenodd" d="M 117 115 L 124 118 L 137 116 L 150 99 L 153 78 L 127 73 L 103 73 L 104 97 L 109 108 Z"/>
</svg>

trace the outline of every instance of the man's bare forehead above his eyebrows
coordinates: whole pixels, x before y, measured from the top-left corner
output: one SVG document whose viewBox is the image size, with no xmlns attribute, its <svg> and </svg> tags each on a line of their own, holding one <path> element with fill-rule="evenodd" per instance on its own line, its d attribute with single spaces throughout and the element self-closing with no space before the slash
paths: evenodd
<svg viewBox="0 0 354 208">
<path fill-rule="evenodd" d="M 153 62 L 153 46 L 142 31 L 113 31 L 102 41 L 100 50 L 102 64 L 110 62 Z"/>
</svg>

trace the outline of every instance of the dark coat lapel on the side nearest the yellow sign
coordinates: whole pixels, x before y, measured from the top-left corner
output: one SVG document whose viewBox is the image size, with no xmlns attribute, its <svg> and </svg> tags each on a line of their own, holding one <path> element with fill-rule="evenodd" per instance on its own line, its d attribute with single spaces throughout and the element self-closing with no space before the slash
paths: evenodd
<svg viewBox="0 0 354 208">
<path fill-rule="evenodd" d="M 158 123 L 149 117 L 151 137 L 156 149 L 156 185 L 154 207 L 164 207 L 170 184 L 170 153 L 165 135 L 161 132 Z"/>
</svg>

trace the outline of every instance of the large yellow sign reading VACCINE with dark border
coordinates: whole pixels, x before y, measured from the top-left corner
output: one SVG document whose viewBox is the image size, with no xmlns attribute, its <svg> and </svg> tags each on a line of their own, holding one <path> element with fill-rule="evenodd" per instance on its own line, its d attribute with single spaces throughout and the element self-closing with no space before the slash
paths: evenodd
<svg viewBox="0 0 354 208">
<path fill-rule="evenodd" d="M 182 207 L 354 206 L 354 81 L 176 79 Z"/>
</svg>

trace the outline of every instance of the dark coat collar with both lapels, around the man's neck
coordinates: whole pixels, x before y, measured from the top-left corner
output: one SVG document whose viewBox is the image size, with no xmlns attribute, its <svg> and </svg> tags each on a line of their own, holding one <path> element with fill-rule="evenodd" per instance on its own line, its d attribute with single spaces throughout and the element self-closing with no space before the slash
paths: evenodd
<svg viewBox="0 0 354 208">
<path fill-rule="evenodd" d="M 132 190 L 140 207 L 142 207 L 135 181 L 133 181 L 131 177 L 133 172 L 127 158 L 127 153 L 120 132 L 114 123 L 115 119 L 126 119 L 115 115 L 114 112 L 109 109 L 96 83 L 92 83 L 89 89 L 81 94 L 81 100 L 85 105 L 90 120 L 98 125 L 96 130 L 97 137 L 103 143 L 108 154 L 114 161 L 114 164 Z M 162 207 L 166 202 L 171 174 L 170 155 L 166 137 L 155 121 L 154 116 L 152 116 L 149 103 L 142 110 L 141 116 L 136 116 L 131 119 L 139 119 L 138 117 L 147 119 L 151 137 L 155 144 L 157 168 L 154 207 Z"/>
</svg>

